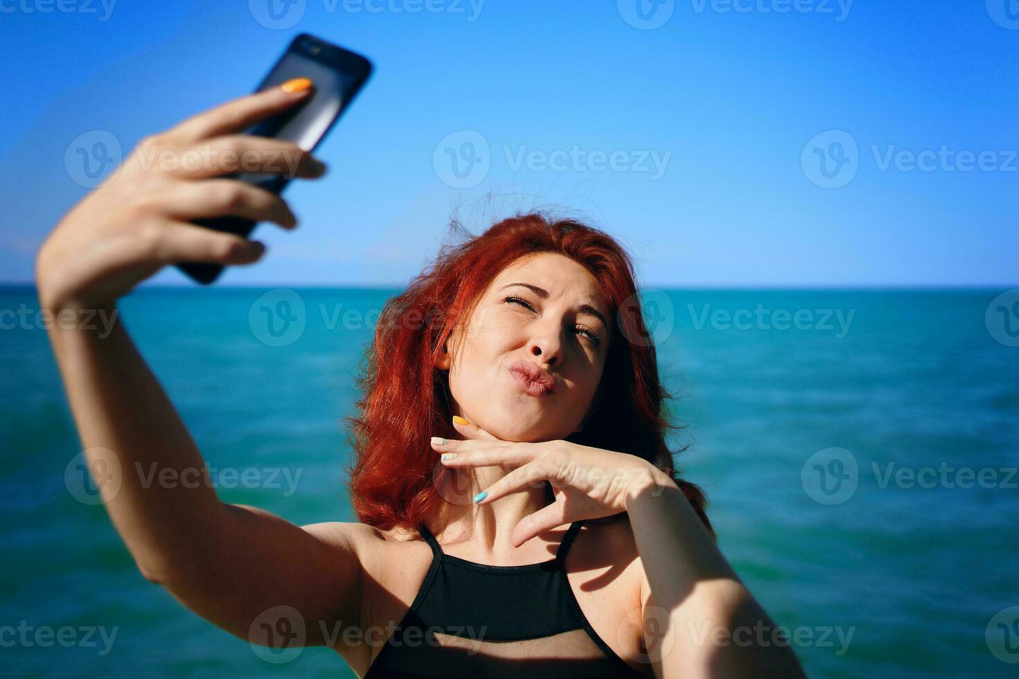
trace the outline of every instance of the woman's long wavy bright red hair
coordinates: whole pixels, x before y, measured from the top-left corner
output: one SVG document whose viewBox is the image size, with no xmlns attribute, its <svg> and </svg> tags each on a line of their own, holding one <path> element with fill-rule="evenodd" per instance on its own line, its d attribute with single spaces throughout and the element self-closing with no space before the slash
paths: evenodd
<svg viewBox="0 0 1019 679">
<path fill-rule="evenodd" d="M 455 221 L 451 226 L 461 228 Z M 676 481 L 713 534 L 703 491 L 679 478 L 665 443 L 669 429 L 684 427 L 673 425 L 662 410 L 671 396 L 658 378 L 654 343 L 635 303 L 630 256 L 604 231 L 538 212 L 504 219 L 460 244 L 447 241 L 430 267 L 387 300 L 357 378 L 357 415 L 344 418 L 353 425 L 348 442 L 356 458 L 348 487 L 359 520 L 383 530 L 413 529 L 446 502 L 433 483 L 442 466 L 436 465 L 429 437 L 459 433 L 450 424 L 447 374 L 435 367 L 436 360 L 498 272 L 540 252 L 585 266 L 611 312 L 612 336 L 595 408 L 567 440 L 647 460 Z M 551 502 L 550 484 L 546 490 Z"/>
</svg>

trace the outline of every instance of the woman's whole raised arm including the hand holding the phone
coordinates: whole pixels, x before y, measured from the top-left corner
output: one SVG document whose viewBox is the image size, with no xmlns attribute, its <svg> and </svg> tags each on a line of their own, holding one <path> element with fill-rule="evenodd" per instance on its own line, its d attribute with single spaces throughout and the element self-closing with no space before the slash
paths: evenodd
<svg viewBox="0 0 1019 679">
<path fill-rule="evenodd" d="M 131 342 L 116 301 L 165 264 L 246 264 L 263 252 L 191 219 L 237 215 L 296 225 L 278 196 L 217 175 L 243 169 L 321 176 L 324 167 L 297 146 L 235 134 L 307 94 L 276 88 L 243 97 L 143 140 L 111 180 L 64 216 L 36 260 L 40 304 L 58 320 L 49 337 L 89 468 L 142 573 L 220 627 L 271 645 L 279 641 L 268 637 L 274 630 L 303 627 L 304 643 L 321 644 L 337 638 L 336 623 L 360 624 L 362 571 L 352 524 L 302 528 L 224 505 L 206 483 L 182 482 L 202 479 L 205 462 Z M 189 165 L 189 158 L 202 162 Z M 238 158 L 248 164 L 238 167 Z M 115 318 L 108 335 L 83 322 L 97 312 Z M 300 620 L 280 623 L 279 616 Z"/>
</svg>

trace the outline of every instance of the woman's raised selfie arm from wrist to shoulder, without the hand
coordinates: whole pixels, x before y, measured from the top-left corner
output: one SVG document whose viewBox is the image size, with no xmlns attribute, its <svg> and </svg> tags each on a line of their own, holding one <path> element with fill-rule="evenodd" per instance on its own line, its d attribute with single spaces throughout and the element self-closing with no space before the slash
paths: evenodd
<svg viewBox="0 0 1019 679">
<path fill-rule="evenodd" d="M 245 639 L 276 606 L 300 612 L 310 645 L 327 642 L 337 620 L 358 624 L 353 536 L 225 505 L 196 482 L 206 463 L 122 318 L 105 337 L 69 323 L 50 324 L 49 334 L 89 469 L 99 472 L 106 510 L 147 579 Z M 161 475 L 173 482 L 160 483 Z"/>
</svg>

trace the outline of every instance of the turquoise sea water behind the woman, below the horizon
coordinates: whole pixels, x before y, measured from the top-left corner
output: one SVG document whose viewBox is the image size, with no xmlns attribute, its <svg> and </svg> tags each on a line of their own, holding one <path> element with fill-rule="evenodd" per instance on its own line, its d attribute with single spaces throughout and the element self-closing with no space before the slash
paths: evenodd
<svg viewBox="0 0 1019 679">
<path fill-rule="evenodd" d="M 300 524 L 353 519 L 339 418 L 392 292 L 145 290 L 121 309 L 210 467 L 262 479 L 223 475 L 221 497 Z M 676 437 L 693 442 L 681 466 L 707 490 L 737 571 L 779 624 L 799 630 L 810 676 L 1019 670 L 1005 662 L 1019 661 L 1017 616 L 1006 611 L 1019 606 L 1019 478 L 1009 472 L 1019 465 L 1019 348 L 985 322 L 1001 292 L 647 298 L 671 407 L 690 425 Z M 79 450 L 31 290 L 0 289 L 7 673 L 353 676 L 322 648 L 267 663 L 142 578 L 104 510 L 65 480 Z M 712 320 L 719 310 L 743 310 L 745 322 Z M 802 310 L 799 327 L 771 324 L 784 310 Z M 293 482 L 270 479 L 273 469 Z M 996 656 L 985 630 L 1003 621 L 1016 635 L 999 636 L 1013 645 Z M 62 627 L 63 644 L 36 636 Z M 87 639 L 88 627 L 115 636 Z"/>
</svg>

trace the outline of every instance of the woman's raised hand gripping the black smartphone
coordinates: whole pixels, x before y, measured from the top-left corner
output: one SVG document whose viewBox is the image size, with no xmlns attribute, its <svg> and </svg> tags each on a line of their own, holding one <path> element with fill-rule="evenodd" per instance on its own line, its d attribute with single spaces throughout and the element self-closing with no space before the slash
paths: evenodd
<svg viewBox="0 0 1019 679">
<path fill-rule="evenodd" d="M 61 218 L 40 248 L 36 290 L 43 308 L 112 306 L 166 264 L 222 267 L 257 261 L 264 252 L 257 241 L 191 222 L 232 215 L 290 228 L 297 220 L 286 203 L 265 189 L 223 178 L 222 168 L 158 159 L 201 158 L 213 150 L 269 168 L 287 154 L 296 163 L 294 176 L 321 176 L 321 164 L 297 144 L 237 134 L 311 94 L 273 87 L 143 139 L 106 181 Z"/>
</svg>

